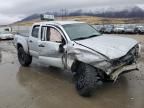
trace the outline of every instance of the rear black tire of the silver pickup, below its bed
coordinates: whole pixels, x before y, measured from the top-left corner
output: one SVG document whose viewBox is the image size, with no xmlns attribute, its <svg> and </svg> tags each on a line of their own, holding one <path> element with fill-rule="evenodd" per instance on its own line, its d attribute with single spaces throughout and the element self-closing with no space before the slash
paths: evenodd
<svg viewBox="0 0 144 108">
<path fill-rule="evenodd" d="M 20 64 L 24 67 L 27 67 L 32 62 L 32 56 L 26 54 L 22 47 L 18 48 L 18 60 Z"/>
</svg>

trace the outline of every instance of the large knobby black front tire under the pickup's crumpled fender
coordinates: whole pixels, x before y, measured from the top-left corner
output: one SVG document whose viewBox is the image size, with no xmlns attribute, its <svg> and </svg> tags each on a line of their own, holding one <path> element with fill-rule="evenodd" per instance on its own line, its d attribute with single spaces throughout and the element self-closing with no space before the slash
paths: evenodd
<svg viewBox="0 0 144 108">
<path fill-rule="evenodd" d="M 84 97 L 90 97 L 95 88 L 102 83 L 96 69 L 83 63 L 79 65 L 74 78 L 78 93 Z"/>
</svg>

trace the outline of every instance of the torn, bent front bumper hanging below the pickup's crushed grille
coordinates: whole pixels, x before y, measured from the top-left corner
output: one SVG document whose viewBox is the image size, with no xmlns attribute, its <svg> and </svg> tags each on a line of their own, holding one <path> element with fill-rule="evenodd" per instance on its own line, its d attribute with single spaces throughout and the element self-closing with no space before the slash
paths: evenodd
<svg viewBox="0 0 144 108">
<path fill-rule="evenodd" d="M 121 74 L 131 72 L 133 70 L 139 70 L 139 65 L 138 64 L 132 64 L 132 65 L 126 65 L 118 68 L 114 72 L 110 74 L 110 78 L 112 80 L 116 80 Z"/>
</svg>

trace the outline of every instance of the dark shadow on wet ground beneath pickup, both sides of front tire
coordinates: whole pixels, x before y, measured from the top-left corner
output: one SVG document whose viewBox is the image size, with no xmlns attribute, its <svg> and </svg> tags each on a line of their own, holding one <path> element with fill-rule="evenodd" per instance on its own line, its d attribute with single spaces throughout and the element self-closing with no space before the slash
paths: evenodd
<svg viewBox="0 0 144 108">
<path fill-rule="evenodd" d="M 19 72 L 17 73 L 17 79 L 20 85 L 32 89 L 33 91 L 37 90 L 37 88 L 33 88 L 33 86 L 37 86 L 39 89 L 43 90 L 58 88 L 65 91 L 67 89 L 70 90 L 71 88 L 70 91 L 76 93 L 74 81 L 72 80 L 72 73 L 59 68 L 36 65 L 32 65 L 31 67 L 20 67 Z M 61 85 L 62 88 L 59 88 L 59 85 Z M 51 89 L 49 89 L 49 87 L 51 87 Z M 114 96 L 119 94 L 119 92 L 122 92 L 122 94 L 126 96 L 128 92 L 127 89 L 127 79 L 125 76 L 121 76 L 115 83 L 111 81 L 104 82 L 102 86 L 95 90 L 93 97 L 101 97 L 102 94 L 107 95 L 107 93 L 112 93 Z M 57 93 L 59 93 L 59 90 Z"/>
</svg>

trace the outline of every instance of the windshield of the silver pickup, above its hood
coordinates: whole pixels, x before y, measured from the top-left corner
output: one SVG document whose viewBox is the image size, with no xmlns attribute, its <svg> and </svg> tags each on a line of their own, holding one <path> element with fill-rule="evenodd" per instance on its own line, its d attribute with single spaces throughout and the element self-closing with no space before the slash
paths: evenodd
<svg viewBox="0 0 144 108">
<path fill-rule="evenodd" d="M 101 35 L 92 26 L 85 23 L 63 25 L 71 40 L 81 40 Z"/>
</svg>

